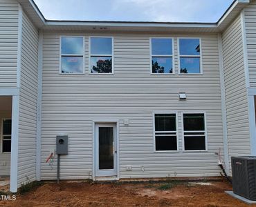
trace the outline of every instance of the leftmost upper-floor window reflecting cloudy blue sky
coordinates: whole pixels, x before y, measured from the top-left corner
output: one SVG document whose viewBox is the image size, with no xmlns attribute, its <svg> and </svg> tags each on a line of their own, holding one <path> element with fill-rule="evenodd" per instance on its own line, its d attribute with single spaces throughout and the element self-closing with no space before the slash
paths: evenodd
<svg viewBox="0 0 256 207">
<path fill-rule="evenodd" d="M 84 72 L 84 38 L 61 37 L 61 73 Z"/>
</svg>

